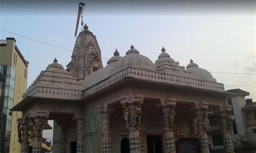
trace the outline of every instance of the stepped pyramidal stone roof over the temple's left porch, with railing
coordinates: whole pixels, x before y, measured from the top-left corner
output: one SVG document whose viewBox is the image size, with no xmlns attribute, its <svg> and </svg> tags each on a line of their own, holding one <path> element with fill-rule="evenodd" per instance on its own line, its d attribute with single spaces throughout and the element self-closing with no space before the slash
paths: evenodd
<svg viewBox="0 0 256 153">
<path fill-rule="evenodd" d="M 82 91 L 80 82 L 72 77 L 55 58 L 44 71 L 37 76 L 36 80 L 29 86 L 23 97 L 46 96 L 50 98 L 72 99 L 77 96 L 77 91 Z M 63 96 L 66 95 L 66 96 Z M 73 96 L 72 96 L 73 95 Z"/>
</svg>

